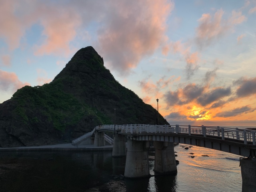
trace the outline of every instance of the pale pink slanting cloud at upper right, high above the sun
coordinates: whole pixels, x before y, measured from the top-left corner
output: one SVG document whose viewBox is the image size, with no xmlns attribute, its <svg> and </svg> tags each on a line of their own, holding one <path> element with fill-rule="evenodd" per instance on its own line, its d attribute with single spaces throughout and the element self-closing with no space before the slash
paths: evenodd
<svg viewBox="0 0 256 192">
<path fill-rule="evenodd" d="M 224 11 L 222 9 L 217 10 L 213 17 L 209 13 L 202 14 L 202 17 L 198 20 L 199 26 L 196 29 L 196 42 L 201 48 L 212 44 L 228 34 L 235 25 L 246 20 L 242 12 L 232 11 L 232 16 L 228 19 L 222 18 L 223 15 Z"/>
</svg>

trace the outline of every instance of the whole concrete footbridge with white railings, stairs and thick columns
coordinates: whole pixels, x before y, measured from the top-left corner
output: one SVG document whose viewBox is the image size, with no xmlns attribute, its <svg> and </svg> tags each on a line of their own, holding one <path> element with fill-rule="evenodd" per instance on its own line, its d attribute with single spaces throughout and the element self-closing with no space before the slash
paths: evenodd
<svg viewBox="0 0 256 192">
<path fill-rule="evenodd" d="M 138 178 L 150 176 L 148 149 L 155 147 L 154 172 L 177 172 L 174 142 L 196 145 L 246 156 L 240 159 L 242 191 L 256 191 L 256 131 L 219 126 L 191 125 L 102 125 L 72 142 L 78 145 L 95 134 L 94 146 L 104 146 L 104 132 L 114 132 L 112 156 L 126 156 L 124 176 Z M 127 154 L 126 154 L 127 139 Z"/>
</svg>

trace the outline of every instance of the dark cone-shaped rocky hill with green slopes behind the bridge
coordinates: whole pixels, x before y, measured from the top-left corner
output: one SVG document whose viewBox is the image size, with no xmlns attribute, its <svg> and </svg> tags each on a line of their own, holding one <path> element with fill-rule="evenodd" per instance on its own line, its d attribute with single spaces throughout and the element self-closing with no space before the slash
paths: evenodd
<svg viewBox="0 0 256 192">
<path fill-rule="evenodd" d="M 157 110 L 119 84 L 91 46 L 52 82 L 24 86 L 0 104 L 0 147 L 71 142 L 94 126 L 157 124 Z M 159 124 L 168 122 L 159 114 Z"/>
</svg>

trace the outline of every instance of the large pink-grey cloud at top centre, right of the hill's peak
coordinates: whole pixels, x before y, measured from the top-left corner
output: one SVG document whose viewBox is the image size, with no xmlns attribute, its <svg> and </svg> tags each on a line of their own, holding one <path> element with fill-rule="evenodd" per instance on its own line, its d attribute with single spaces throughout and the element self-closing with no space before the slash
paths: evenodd
<svg viewBox="0 0 256 192">
<path fill-rule="evenodd" d="M 127 75 L 143 57 L 153 54 L 165 38 L 166 18 L 172 6 L 167 0 L 110 3 L 98 42 L 100 54 L 112 70 Z"/>
</svg>

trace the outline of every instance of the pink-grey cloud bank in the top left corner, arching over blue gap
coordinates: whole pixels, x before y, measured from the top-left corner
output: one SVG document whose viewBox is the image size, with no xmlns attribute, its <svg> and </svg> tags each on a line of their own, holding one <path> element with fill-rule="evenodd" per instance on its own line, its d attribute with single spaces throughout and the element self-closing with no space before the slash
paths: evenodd
<svg viewBox="0 0 256 192">
<path fill-rule="evenodd" d="M 26 29 L 32 24 L 41 24 L 44 30 L 41 43 L 35 46 L 35 55 L 68 56 L 74 52 L 69 43 L 75 38 L 76 29 L 81 23 L 79 12 L 67 4 L 58 4 L 56 7 L 54 2 L 0 1 L 0 37 L 10 50 L 14 50 L 20 46 L 20 39 Z"/>
</svg>

